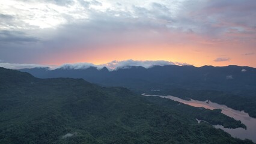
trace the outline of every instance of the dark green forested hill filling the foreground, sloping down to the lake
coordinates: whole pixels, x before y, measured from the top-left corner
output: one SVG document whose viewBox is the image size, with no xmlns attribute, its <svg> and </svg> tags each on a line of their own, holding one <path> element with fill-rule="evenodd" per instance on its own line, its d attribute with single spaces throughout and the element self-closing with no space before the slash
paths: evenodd
<svg viewBox="0 0 256 144">
<path fill-rule="evenodd" d="M 82 79 L 37 79 L 0 68 L 0 100 L 0 143 L 252 143 L 213 128 L 245 127 L 219 110 Z"/>
</svg>

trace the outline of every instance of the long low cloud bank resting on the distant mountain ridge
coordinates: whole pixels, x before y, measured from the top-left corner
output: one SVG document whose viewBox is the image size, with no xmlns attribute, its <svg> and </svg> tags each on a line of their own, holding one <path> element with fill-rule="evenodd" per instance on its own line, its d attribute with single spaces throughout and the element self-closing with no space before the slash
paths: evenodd
<svg viewBox="0 0 256 144">
<path fill-rule="evenodd" d="M 54 65 L 38 65 L 38 64 L 10 64 L 10 63 L 0 63 L 0 67 L 4 68 L 10 68 L 10 69 L 22 69 L 22 68 L 46 68 L 49 67 L 50 70 L 55 70 L 57 68 L 63 68 L 63 69 L 87 69 L 89 67 L 96 67 L 98 70 L 102 69 L 103 67 L 108 68 L 108 70 L 118 70 L 120 68 L 129 68 L 132 66 L 141 66 L 145 68 L 153 67 L 154 65 L 189 65 L 186 63 L 181 62 L 171 62 L 171 61 L 135 61 L 132 59 L 128 59 L 126 61 L 112 61 L 108 62 L 106 64 L 92 64 L 92 63 L 76 63 L 76 64 L 63 64 L 60 66 L 54 66 Z"/>
</svg>

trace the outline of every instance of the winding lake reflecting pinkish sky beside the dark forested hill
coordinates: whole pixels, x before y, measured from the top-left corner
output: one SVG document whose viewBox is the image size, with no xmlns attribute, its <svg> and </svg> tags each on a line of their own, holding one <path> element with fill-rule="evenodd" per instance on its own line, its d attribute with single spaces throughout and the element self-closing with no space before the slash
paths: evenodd
<svg viewBox="0 0 256 144">
<path fill-rule="evenodd" d="M 230 116 L 231 118 L 234 118 L 238 121 L 241 121 L 243 124 L 246 125 L 247 129 L 244 128 L 224 128 L 222 125 L 213 125 L 215 128 L 221 128 L 222 130 L 226 131 L 227 133 L 231 134 L 233 137 L 237 137 L 239 139 L 250 139 L 253 142 L 256 142 L 256 119 L 252 118 L 248 115 L 248 113 L 245 113 L 243 111 L 234 110 L 230 107 L 227 107 L 225 105 L 221 105 L 218 103 L 212 103 L 209 101 L 209 103 L 206 103 L 207 101 L 197 101 L 197 100 L 182 100 L 181 98 L 173 97 L 171 95 L 168 96 L 162 96 L 162 95 L 145 95 L 144 96 L 158 96 L 162 98 L 169 98 L 174 101 L 178 101 L 180 103 L 184 103 L 190 106 L 194 107 L 204 107 L 206 109 L 221 109 L 222 113 L 224 115 Z"/>
</svg>

